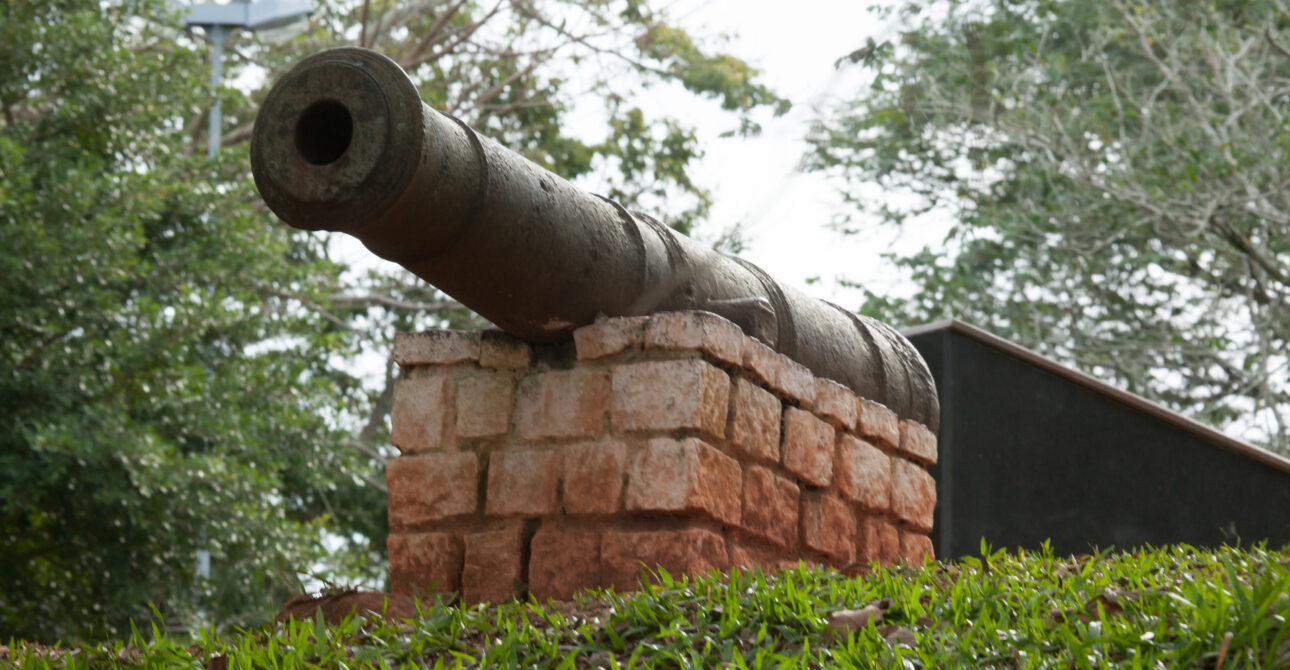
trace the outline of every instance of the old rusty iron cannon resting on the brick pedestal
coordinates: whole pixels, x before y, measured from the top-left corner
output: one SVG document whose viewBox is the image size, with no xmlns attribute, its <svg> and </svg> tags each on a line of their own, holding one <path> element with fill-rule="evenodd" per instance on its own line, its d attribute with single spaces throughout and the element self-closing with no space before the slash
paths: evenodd
<svg viewBox="0 0 1290 670">
<path fill-rule="evenodd" d="M 600 315 L 706 310 L 937 430 L 931 374 L 898 332 L 582 191 L 423 103 L 379 53 L 297 63 L 264 98 L 250 151 L 284 222 L 353 235 L 510 334 L 551 342 Z"/>
</svg>

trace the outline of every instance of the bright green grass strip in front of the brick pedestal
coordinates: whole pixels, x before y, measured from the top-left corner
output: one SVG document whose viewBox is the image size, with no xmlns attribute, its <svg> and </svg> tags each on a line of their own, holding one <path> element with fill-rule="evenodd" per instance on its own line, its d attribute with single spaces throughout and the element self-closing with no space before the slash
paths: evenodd
<svg viewBox="0 0 1290 670">
<path fill-rule="evenodd" d="M 423 603 L 402 625 L 303 621 L 197 639 L 154 625 L 129 640 L 54 651 L 10 642 L 0 665 L 1290 669 L 1290 547 L 1075 558 L 983 547 L 952 564 L 857 577 L 808 568 L 655 577 L 637 594 L 574 603 Z M 846 630 L 857 609 L 868 621 Z"/>
</svg>

